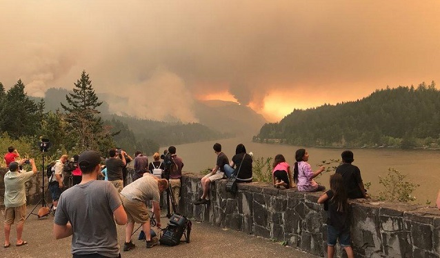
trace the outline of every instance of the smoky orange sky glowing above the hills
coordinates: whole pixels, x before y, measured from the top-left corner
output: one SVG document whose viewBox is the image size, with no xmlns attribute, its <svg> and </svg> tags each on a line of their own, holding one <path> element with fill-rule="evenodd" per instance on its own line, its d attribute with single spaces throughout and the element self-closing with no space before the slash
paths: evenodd
<svg viewBox="0 0 440 258">
<path fill-rule="evenodd" d="M 147 119 L 221 99 L 279 121 L 440 76 L 440 1 L 1 0 L 0 21 L 6 89 L 43 97 L 86 70 L 110 111 Z"/>
</svg>

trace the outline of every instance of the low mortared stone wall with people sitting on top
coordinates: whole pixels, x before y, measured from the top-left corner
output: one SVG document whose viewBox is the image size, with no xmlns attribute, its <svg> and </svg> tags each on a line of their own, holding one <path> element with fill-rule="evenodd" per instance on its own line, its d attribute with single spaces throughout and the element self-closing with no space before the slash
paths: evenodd
<svg viewBox="0 0 440 258">
<path fill-rule="evenodd" d="M 201 197 L 200 179 L 189 173 L 182 179 L 184 215 L 326 256 L 326 212 L 317 204 L 323 192 L 305 194 L 267 183 L 241 183 L 234 196 L 226 192 L 226 180 L 220 180 L 212 184 L 211 204 L 194 206 Z M 355 257 L 439 257 L 437 208 L 360 199 L 351 201 L 350 209 Z M 337 257 L 346 257 L 341 248 Z"/>
</svg>

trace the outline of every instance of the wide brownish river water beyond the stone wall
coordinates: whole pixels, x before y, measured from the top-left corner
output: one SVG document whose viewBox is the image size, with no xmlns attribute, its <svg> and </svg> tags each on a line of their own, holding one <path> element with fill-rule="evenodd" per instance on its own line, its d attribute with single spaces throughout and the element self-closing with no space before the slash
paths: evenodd
<svg viewBox="0 0 440 258">
<path fill-rule="evenodd" d="M 287 146 L 267 143 L 253 143 L 252 137 L 241 137 L 222 139 L 218 141 L 204 141 L 199 143 L 188 143 L 176 146 L 177 155 L 183 159 L 183 171 L 200 172 L 208 167 L 215 166 L 216 155 L 212 149 L 214 143 L 219 142 L 223 152 L 229 159 L 235 154 L 238 143 L 243 143 L 248 152 L 254 153 L 255 157 L 275 157 L 282 154 L 286 161 L 293 166 L 294 152 L 298 146 Z M 163 152 L 165 148 L 161 148 Z M 310 155 L 308 163 L 315 170 L 317 164 L 323 160 L 340 159 L 344 149 L 339 148 L 306 148 Z M 437 192 L 440 188 L 440 151 L 439 150 L 399 150 L 390 148 L 355 148 L 353 165 L 361 170 L 363 182 L 371 182 L 370 195 L 377 195 L 383 190 L 379 184 L 379 176 L 386 176 L 388 168 L 395 168 L 407 175 L 407 181 L 418 183 L 420 186 L 413 192 L 417 198 L 415 203 L 425 205 L 431 201 L 435 204 Z M 330 172 L 323 173 L 315 180 L 327 188 L 329 187 Z"/>
</svg>

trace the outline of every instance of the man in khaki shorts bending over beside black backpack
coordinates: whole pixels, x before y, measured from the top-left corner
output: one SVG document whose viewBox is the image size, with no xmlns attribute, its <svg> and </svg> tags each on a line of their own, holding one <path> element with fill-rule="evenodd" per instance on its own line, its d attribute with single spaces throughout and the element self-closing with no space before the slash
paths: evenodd
<svg viewBox="0 0 440 258">
<path fill-rule="evenodd" d="M 123 250 L 128 251 L 135 247 L 131 241 L 134 223 L 142 225 L 146 235 L 147 248 L 157 245 L 159 239 L 150 235 L 150 217 L 146 202 L 152 200 L 156 225 L 161 226 L 161 208 L 159 206 L 160 194 L 168 188 L 166 179 L 158 179 L 150 173 L 143 174 L 143 177 L 133 181 L 124 187 L 121 192 L 123 208 L 126 210 L 128 223 L 126 224 L 126 242 Z"/>
</svg>

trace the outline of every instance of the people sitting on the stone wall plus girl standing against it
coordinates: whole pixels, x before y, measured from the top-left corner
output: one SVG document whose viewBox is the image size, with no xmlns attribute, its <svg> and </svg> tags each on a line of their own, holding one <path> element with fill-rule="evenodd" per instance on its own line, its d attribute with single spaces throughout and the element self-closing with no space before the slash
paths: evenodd
<svg viewBox="0 0 440 258">
<path fill-rule="evenodd" d="M 239 144 L 236 153 L 229 163 L 228 157 L 221 151 L 221 144 L 212 146 L 217 161 L 214 168 L 201 179 L 202 195 L 194 202 L 195 205 L 210 204 L 209 189 L 213 181 L 237 177 L 237 182 L 247 183 L 252 181 L 252 157 L 246 153 L 243 144 Z M 334 175 L 330 177 L 330 190 L 319 198 L 318 203 L 324 204 L 327 210 L 327 244 L 328 257 L 333 257 L 334 246 L 339 239 L 339 244 L 346 250 L 348 257 L 354 257 L 350 246 L 350 220 L 348 215 L 348 199 L 368 198 L 361 171 L 352 165 L 353 152 L 345 150 L 341 153 L 342 163 L 337 167 Z M 317 192 L 326 190 L 325 186 L 319 185 L 314 178 L 320 175 L 326 168 L 319 167 L 313 171 L 308 163 L 309 154 L 306 149 L 295 152 L 295 163 L 292 168 L 286 162 L 286 158 L 279 154 L 274 157 L 272 164 L 272 184 L 275 188 L 291 188 L 297 186 L 301 192 Z M 440 194 L 439 194 L 440 200 Z M 439 201 L 440 204 L 440 201 Z M 440 207 L 440 206 L 439 206 Z"/>
</svg>

